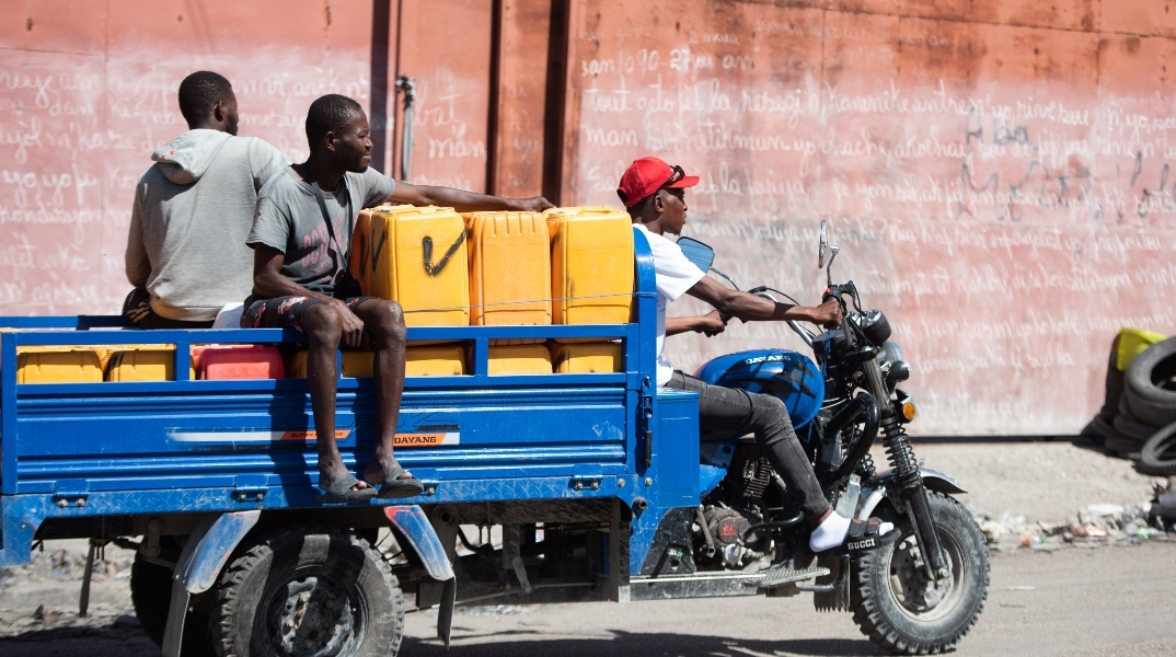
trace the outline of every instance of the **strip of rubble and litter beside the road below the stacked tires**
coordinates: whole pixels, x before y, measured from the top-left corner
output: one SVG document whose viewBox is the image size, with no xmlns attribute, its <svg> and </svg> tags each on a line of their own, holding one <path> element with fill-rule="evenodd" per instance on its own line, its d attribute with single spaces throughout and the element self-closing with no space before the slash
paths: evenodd
<svg viewBox="0 0 1176 657">
<path fill-rule="evenodd" d="M 975 514 L 988 547 L 1053 551 L 1063 545 L 1137 545 L 1141 541 L 1176 541 L 1176 477 L 1157 485 L 1151 500 L 1137 504 L 1090 504 L 1065 522 L 1025 522 L 1024 516 Z"/>
</svg>

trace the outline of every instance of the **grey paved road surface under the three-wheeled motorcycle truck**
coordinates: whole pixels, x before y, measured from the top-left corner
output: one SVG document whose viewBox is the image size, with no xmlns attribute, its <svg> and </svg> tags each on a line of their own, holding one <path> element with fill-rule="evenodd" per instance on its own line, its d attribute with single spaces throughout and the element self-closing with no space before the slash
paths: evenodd
<svg viewBox="0 0 1176 657">
<path fill-rule="evenodd" d="M 1171 655 L 1176 652 L 1176 543 L 1064 548 L 993 555 L 980 623 L 960 645 L 969 655 Z M 11 623 L 9 610 L 6 619 Z M 111 611 L 111 621 L 118 611 Z M 410 614 L 409 657 L 747 657 L 881 655 L 848 614 L 817 614 L 810 598 L 739 598 L 473 608 L 459 611 L 454 646 L 434 633 L 436 615 Z M 7 632 L 6 632 L 7 633 Z M 0 655 L 159 655 L 128 626 L 34 630 L 0 639 Z"/>
</svg>

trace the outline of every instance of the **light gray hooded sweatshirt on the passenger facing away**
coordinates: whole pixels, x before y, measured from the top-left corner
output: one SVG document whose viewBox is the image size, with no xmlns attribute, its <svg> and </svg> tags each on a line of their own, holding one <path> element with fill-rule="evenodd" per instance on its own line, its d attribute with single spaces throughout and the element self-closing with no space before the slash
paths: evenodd
<svg viewBox="0 0 1176 657">
<path fill-rule="evenodd" d="M 127 280 L 151 293 L 156 315 L 212 321 L 253 290 L 258 190 L 289 166 L 256 138 L 188 130 L 152 154 L 139 179 L 127 236 Z"/>
</svg>

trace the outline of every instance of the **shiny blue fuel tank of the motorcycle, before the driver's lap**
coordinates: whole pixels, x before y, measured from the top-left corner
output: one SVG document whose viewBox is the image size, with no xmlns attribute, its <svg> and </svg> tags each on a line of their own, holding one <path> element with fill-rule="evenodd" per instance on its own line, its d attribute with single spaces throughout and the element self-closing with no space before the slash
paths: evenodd
<svg viewBox="0 0 1176 657">
<path fill-rule="evenodd" d="M 711 386 L 773 395 L 784 402 L 793 428 L 816 417 L 824 401 L 824 378 L 816 364 L 797 351 L 756 349 L 719 356 L 699 368 Z"/>
</svg>

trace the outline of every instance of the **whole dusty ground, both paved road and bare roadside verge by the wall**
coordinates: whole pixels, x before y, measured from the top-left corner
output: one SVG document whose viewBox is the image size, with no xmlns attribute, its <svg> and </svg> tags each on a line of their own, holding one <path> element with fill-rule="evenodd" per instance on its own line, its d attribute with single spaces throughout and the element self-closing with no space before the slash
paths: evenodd
<svg viewBox="0 0 1176 657">
<path fill-rule="evenodd" d="M 1137 503 L 1158 482 L 1125 461 L 1068 442 L 916 449 L 928 467 L 957 475 L 971 490 L 961 501 L 974 511 L 1023 515 L 1030 522 L 1063 522 L 1095 503 Z M 956 653 L 1176 653 L 1176 536 L 1169 537 L 1138 545 L 994 551 L 988 603 Z M 49 543 L 46 554 L 54 549 Z M 76 616 L 80 583 L 58 567 L 42 563 L 0 577 L 0 656 L 158 656 L 129 611 L 129 554 L 108 548 L 107 557 L 109 576 L 94 582 L 87 618 Z M 435 612 L 409 614 L 401 655 L 883 653 L 849 614 L 817 614 L 808 595 L 460 608 L 449 651 L 433 638 L 435 624 Z"/>
</svg>

